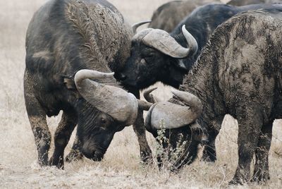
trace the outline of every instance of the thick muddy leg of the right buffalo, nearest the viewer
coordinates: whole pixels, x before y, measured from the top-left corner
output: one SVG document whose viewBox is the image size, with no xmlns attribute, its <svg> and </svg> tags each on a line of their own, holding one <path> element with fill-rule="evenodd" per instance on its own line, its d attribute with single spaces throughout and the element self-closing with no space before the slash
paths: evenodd
<svg viewBox="0 0 282 189">
<path fill-rule="evenodd" d="M 259 106 L 240 106 L 236 110 L 238 120 L 238 166 L 230 184 L 242 184 L 250 179 L 250 164 L 262 128 Z"/>
</svg>

